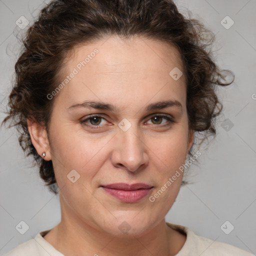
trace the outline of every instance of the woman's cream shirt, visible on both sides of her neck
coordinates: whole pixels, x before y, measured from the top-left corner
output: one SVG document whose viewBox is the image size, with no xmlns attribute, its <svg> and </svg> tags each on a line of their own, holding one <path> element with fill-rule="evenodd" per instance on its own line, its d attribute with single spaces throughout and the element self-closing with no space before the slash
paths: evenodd
<svg viewBox="0 0 256 256">
<path fill-rule="evenodd" d="M 233 245 L 199 236 L 186 226 L 166 224 L 186 234 L 186 241 L 175 256 L 254 256 Z M 19 244 L 4 256 L 64 256 L 42 237 L 49 231 L 39 232 L 33 239 Z"/>
</svg>

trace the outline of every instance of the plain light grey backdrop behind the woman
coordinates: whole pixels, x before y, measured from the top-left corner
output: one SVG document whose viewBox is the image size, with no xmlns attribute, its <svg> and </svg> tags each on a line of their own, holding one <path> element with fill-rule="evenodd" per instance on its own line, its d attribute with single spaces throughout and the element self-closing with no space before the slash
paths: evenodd
<svg viewBox="0 0 256 256">
<path fill-rule="evenodd" d="M 256 0 L 175 2 L 183 14 L 188 8 L 193 17 L 216 34 L 216 61 L 221 68 L 235 73 L 235 81 L 218 89 L 224 108 L 218 119 L 216 139 L 202 145 L 200 164 L 191 166 L 187 178 L 194 183 L 181 187 L 166 221 L 256 253 L 256 99 L 253 99 L 256 98 L 253 94 L 256 93 Z M 23 31 L 15 21 L 23 15 L 31 23 L 32 16 L 42 6 L 41 0 L 0 0 L 0 120 L 5 116 L 2 111 L 19 48 L 13 31 Z M 234 21 L 229 29 L 220 23 L 227 15 Z M 228 131 L 222 127 L 227 118 L 233 123 Z M 0 132 L 0 254 L 3 255 L 39 231 L 56 225 L 60 221 L 60 206 L 58 196 L 43 186 L 37 170 L 30 167 L 31 158 L 24 157 L 15 129 L 3 126 Z M 23 235 L 15 229 L 21 220 L 29 226 Z M 229 234 L 220 228 L 226 220 L 234 226 Z"/>
</svg>

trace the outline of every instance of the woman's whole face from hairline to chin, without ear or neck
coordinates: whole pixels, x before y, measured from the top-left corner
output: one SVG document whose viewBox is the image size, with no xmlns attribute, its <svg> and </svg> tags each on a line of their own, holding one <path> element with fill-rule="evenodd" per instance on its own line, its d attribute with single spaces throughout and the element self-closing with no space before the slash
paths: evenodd
<svg viewBox="0 0 256 256">
<path fill-rule="evenodd" d="M 173 204 L 182 172 L 171 178 L 192 143 L 181 60 L 175 48 L 139 37 L 111 36 L 71 53 L 49 126 L 62 217 L 139 236 Z"/>
</svg>

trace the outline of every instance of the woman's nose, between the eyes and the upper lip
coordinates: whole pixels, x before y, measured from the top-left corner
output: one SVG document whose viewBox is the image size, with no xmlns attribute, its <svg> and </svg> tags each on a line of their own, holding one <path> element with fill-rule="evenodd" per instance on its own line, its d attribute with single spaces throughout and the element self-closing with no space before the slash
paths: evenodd
<svg viewBox="0 0 256 256">
<path fill-rule="evenodd" d="M 115 167 L 136 171 L 141 165 L 148 164 L 147 147 L 136 128 L 119 129 L 114 137 L 111 160 Z"/>
</svg>

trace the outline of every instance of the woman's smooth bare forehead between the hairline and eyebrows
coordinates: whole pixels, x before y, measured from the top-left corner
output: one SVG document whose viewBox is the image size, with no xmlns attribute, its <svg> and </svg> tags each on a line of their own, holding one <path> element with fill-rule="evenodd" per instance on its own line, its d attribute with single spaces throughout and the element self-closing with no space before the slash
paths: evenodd
<svg viewBox="0 0 256 256">
<path fill-rule="evenodd" d="M 173 68 L 184 73 L 174 46 L 144 37 L 124 41 L 110 36 L 76 46 L 69 52 L 60 80 L 71 73 L 75 75 L 66 80 L 59 94 L 68 98 L 66 106 L 86 97 L 101 100 L 104 95 L 130 97 L 133 102 L 140 96 L 149 100 L 159 90 L 162 94 L 169 91 L 173 96 L 184 95 L 184 75 L 174 80 L 169 74 Z"/>
</svg>

